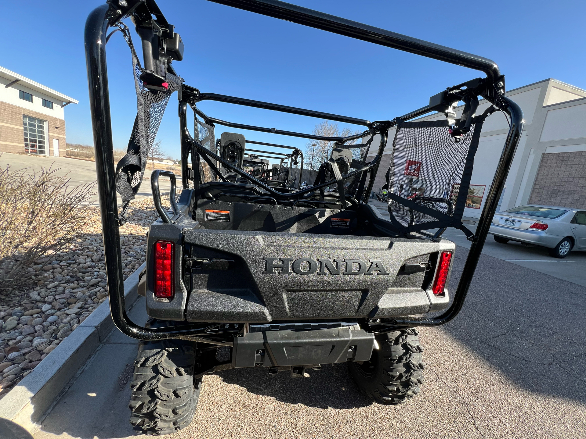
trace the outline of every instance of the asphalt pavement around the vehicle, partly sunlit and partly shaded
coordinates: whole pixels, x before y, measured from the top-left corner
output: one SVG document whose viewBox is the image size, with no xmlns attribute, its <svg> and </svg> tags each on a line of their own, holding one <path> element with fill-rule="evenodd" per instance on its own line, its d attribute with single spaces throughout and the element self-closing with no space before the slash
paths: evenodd
<svg viewBox="0 0 586 439">
<path fill-rule="evenodd" d="M 456 250 L 452 290 L 466 252 Z M 205 376 L 195 420 L 168 437 L 583 438 L 585 296 L 576 283 L 482 255 L 459 316 L 420 330 L 428 367 L 411 402 L 370 403 L 344 364 L 302 379 L 233 369 Z M 144 303 L 130 315 L 144 321 Z M 133 437 L 126 404 L 136 345 L 114 332 L 35 439 Z"/>
</svg>

